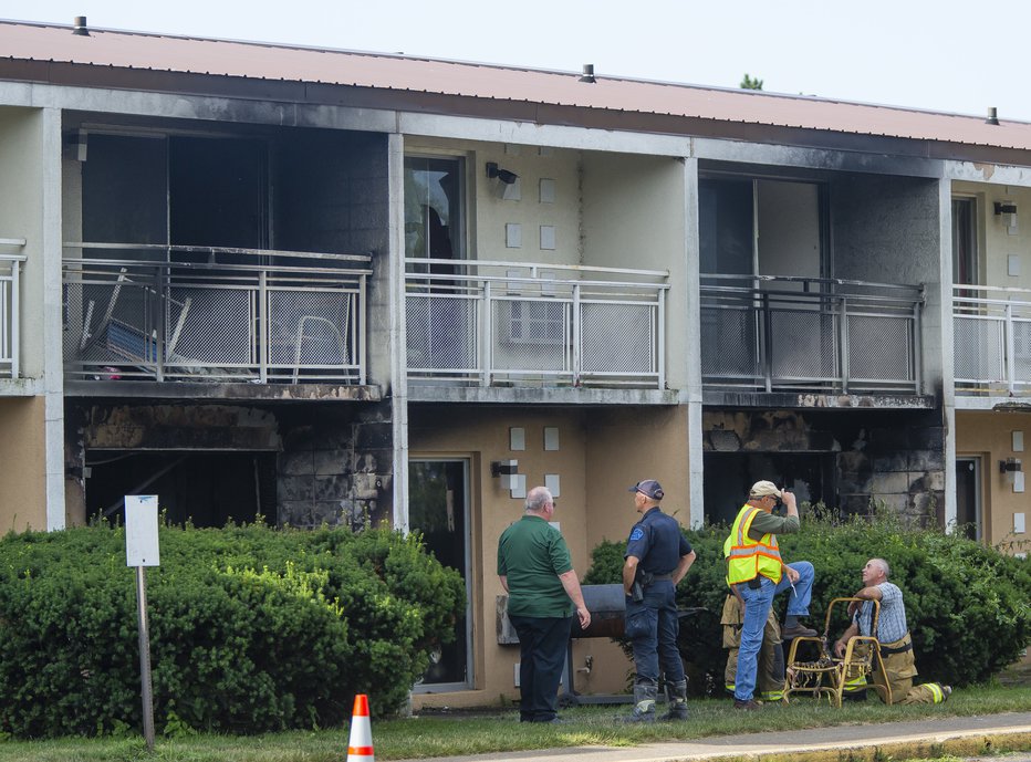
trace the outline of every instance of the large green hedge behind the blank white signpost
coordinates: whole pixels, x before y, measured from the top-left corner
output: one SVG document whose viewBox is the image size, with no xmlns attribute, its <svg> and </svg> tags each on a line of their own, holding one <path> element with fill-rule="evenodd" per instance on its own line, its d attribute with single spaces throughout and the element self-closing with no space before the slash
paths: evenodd
<svg viewBox="0 0 1031 762">
<path fill-rule="evenodd" d="M 461 578 L 383 529 L 160 528 L 147 571 L 155 726 L 340 726 L 396 711 L 454 637 Z M 135 570 L 123 529 L 0 540 L 0 737 L 142 727 Z"/>
</svg>

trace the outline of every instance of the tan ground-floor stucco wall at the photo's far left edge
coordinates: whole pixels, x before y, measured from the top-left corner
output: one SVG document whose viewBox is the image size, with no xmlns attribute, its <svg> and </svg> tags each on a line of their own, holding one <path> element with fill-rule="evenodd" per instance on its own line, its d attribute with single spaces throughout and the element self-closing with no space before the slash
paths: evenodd
<svg viewBox="0 0 1031 762">
<path fill-rule="evenodd" d="M 0 398 L 0 534 L 46 529 L 42 397 Z"/>
</svg>

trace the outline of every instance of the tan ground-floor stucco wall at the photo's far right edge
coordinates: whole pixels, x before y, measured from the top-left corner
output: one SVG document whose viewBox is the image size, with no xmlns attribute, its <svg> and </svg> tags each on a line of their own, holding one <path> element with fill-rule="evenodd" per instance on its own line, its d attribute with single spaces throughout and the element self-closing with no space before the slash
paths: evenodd
<svg viewBox="0 0 1031 762">
<path fill-rule="evenodd" d="M 1029 492 L 1013 492 L 1006 476 L 999 472 L 999 461 L 1019 458 L 1024 473 L 1031 470 L 1027 452 L 1013 451 L 1013 431 L 1023 431 L 1025 447 L 1031 446 L 1031 417 L 1025 414 L 956 411 L 956 456 L 981 458 L 981 510 L 983 536 L 991 545 L 1019 542 L 1011 551 L 1031 551 L 1031 500 Z M 1031 488 L 1031 484 L 1029 484 Z M 1013 534 L 1013 514 L 1023 513 L 1025 531 Z"/>
</svg>

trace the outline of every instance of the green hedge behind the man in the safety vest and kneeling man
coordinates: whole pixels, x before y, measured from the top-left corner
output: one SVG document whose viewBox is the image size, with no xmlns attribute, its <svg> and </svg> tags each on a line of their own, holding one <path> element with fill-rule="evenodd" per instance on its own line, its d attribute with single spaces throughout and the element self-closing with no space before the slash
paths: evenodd
<svg viewBox="0 0 1031 762">
<path fill-rule="evenodd" d="M 681 609 L 705 608 L 709 615 L 687 619 L 681 653 L 689 670 L 704 676 L 706 692 L 719 690 L 726 655 L 719 650 L 718 615 L 727 594 L 722 544 L 727 526 L 685 531 L 698 554 L 677 589 Z M 879 556 L 892 566 L 892 581 L 905 596 L 913 634 L 918 681 L 969 685 L 988 680 L 1012 664 L 1031 644 L 1031 562 L 1004 555 L 959 534 L 909 530 L 892 516 L 836 524 L 803 518 L 799 534 L 780 537 L 784 561 L 810 561 L 815 567 L 809 624 L 822 631 L 831 599 L 853 595 L 862 586 L 860 570 Z M 586 584 L 621 581 L 624 543 L 594 549 Z M 784 595 L 774 606 L 783 615 Z M 843 609 L 839 605 L 835 610 Z M 835 616 L 831 636 L 847 622 Z M 696 686 L 699 688 L 699 686 Z"/>
</svg>

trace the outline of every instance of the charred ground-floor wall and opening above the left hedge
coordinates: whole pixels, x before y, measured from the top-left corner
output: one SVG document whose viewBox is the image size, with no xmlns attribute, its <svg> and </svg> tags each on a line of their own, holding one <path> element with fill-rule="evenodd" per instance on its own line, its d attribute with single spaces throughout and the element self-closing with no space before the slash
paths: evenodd
<svg viewBox="0 0 1031 762">
<path fill-rule="evenodd" d="M 390 520 L 389 405 L 70 403 L 69 500 L 83 519 L 162 495 L 174 522 L 354 528 Z M 77 490 L 77 491 L 76 491 Z"/>
</svg>

